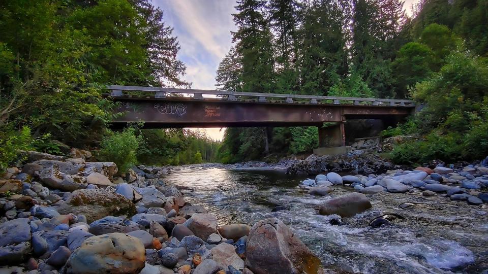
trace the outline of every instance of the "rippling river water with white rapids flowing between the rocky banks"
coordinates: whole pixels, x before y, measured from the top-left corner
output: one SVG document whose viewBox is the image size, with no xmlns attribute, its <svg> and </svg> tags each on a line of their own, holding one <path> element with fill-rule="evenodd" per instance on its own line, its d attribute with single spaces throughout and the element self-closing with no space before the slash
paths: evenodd
<svg viewBox="0 0 488 274">
<path fill-rule="evenodd" d="M 353 191 L 332 186 L 330 196 L 315 197 L 294 187 L 305 178 L 277 170 L 228 170 L 185 166 L 165 180 L 179 186 L 185 199 L 203 205 L 219 224 L 255 222 L 277 217 L 317 256 L 329 273 L 481 273 L 488 269 L 488 208 L 425 197 L 419 190 L 403 194 L 370 194 L 373 209 L 342 225 L 338 216 L 317 214 L 318 205 Z M 399 207 L 404 202 L 414 205 Z M 286 211 L 271 212 L 277 205 Z M 395 213 L 405 217 L 379 228 L 375 217 Z"/>
</svg>

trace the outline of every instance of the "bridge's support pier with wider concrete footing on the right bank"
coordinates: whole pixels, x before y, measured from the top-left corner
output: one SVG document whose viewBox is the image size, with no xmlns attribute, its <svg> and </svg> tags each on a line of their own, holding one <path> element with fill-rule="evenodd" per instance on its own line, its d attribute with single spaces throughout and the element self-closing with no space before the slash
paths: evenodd
<svg viewBox="0 0 488 274">
<path fill-rule="evenodd" d="M 317 155 L 346 154 L 350 148 L 346 146 L 344 121 L 327 127 L 319 126 L 319 148 L 314 149 Z"/>
</svg>

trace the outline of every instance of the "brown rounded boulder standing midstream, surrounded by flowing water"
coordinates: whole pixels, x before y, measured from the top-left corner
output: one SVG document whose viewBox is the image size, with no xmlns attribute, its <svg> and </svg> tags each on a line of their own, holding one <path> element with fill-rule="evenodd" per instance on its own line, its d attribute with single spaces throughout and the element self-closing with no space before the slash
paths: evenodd
<svg viewBox="0 0 488 274">
<path fill-rule="evenodd" d="M 341 217 L 352 217 L 357 213 L 371 209 L 368 197 L 362 193 L 349 193 L 325 201 L 320 206 L 321 215 L 337 214 Z"/>
</svg>

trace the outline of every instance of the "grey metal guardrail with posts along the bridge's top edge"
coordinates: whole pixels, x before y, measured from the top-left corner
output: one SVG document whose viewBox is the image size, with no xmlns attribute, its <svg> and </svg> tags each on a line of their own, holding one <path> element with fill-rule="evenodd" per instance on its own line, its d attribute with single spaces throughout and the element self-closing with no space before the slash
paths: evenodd
<svg viewBox="0 0 488 274">
<path fill-rule="evenodd" d="M 161 87 L 139 87 L 139 86 L 119 86 L 109 85 L 112 97 L 151 97 L 166 98 L 179 94 L 188 94 L 195 100 L 210 99 L 203 95 L 215 95 L 217 98 L 227 101 L 249 101 L 253 99 L 257 102 L 284 101 L 287 103 L 302 104 L 333 104 L 333 105 L 373 105 L 373 106 L 399 106 L 413 107 L 415 101 L 405 99 L 381 99 L 381 98 L 357 98 L 357 97 L 338 97 L 338 96 L 319 96 L 301 94 L 278 94 L 278 93 L 258 93 L 258 92 L 232 92 L 223 90 L 204 90 L 204 89 L 184 89 L 184 88 L 161 88 Z"/>
</svg>

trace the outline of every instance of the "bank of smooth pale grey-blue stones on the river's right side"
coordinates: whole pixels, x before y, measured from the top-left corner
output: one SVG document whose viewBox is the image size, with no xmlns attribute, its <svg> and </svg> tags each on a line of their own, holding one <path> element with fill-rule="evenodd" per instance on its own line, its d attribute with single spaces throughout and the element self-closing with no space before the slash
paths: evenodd
<svg viewBox="0 0 488 274">
<path fill-rule="evenodd" d="M 297 188 L 308 194 L 325 196 L 334 185 L 349 185 L 358 193 L 328 200 L 320 208 L 320 214 L 338 214 L 351 217 L 371 208 L 364 194 L 380 192 L 405 193 L 422 191 L 424 196 L 438 196 L 453 201 L 466 201 L 471 205 L 488 203 L 488 167 L 482 164 L 450 168 L 438 165 L 434 169 L 417 167 L 414 170 L 387 170 L 381 175 L 346 175 L 329 172 L 315 179 L 303 180 Z M 339 205 L 337 205 L 339 204 Z M 408 204 L 404 205 L 408 207 Z"/>
</svg>

